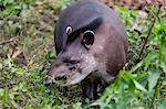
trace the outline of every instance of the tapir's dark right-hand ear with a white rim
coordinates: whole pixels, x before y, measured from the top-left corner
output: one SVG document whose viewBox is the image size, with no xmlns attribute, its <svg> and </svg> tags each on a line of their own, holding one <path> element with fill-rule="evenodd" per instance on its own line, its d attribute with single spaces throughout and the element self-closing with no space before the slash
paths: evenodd
<svg viewBox="0 0 166 109">
<path fill-rule="evenodd" d="M 82 45 L 89 50 L 93 45 L 93 43 L 94 43 L 94 32 L 85 31 L 83 33 Z"/>
</svg>

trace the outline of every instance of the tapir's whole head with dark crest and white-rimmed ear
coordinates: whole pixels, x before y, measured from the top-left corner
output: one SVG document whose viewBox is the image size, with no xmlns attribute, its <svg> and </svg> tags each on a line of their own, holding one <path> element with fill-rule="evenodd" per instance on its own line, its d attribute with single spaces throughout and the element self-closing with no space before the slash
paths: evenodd
<svg viewBox="0 0 166 109">
<path fill-rule="evenodd" d="M 92 48 L 96 26 L 101 24 L 101 18 L 95 19 L 89 26 L 81 28 L 68 36 L 64 48 L 58 54 L 56 61 L 48 72 L 48 84 L 51 81 L 50 78 L 58 81 L 55 78 L 63 77 L 66 78 L 65 85 L 74 85 L 97 69 Z"/>
</svg>

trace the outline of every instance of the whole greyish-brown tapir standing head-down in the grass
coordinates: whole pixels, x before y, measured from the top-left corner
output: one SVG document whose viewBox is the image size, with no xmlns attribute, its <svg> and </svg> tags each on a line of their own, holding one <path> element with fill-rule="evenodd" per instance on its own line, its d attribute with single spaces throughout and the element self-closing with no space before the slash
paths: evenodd
<svg viewBox="0 0 166 109">
<path fill-rule="evenodd" d="M 68 85 L 82 83 L 83 95 L 96 97 L 101 83 L 111 83 L 123 68 L 127 36 L 117 14 L 95 0 L 66 8 L 55 26 L 58 59 L 48 73 L 69 76 Z"/>
</svg>

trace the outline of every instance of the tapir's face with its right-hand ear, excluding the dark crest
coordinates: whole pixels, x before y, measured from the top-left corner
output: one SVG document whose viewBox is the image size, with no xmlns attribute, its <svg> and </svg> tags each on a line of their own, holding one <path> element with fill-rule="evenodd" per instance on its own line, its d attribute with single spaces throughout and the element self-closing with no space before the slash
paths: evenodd
<svg viewBox="0 0 166 109">
<path fill-rule="evenodd" d="M 58 55 L 58 59 L 51 65 L 48 75 L 53 78 L 65 76 L 68 85 L 84 79 L 96 67 L 93 55 L 89 53 L 93 43 L 94 33 L 92 31 L 80 34 Z"/>
</svg>

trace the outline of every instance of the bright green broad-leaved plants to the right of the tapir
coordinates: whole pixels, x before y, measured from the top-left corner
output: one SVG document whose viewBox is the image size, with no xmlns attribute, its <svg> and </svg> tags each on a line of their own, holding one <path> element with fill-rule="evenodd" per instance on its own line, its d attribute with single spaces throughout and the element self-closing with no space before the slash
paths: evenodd
<svg viewBox="0 0 166 109">
<path fill-rule="evenodd" d="M 124 18 L 127 11 L 129 10 L 122 10 L 121 8 Z M 134 14 L 133 11 L 131 12 Z M 125 22 L 128 22 L 128 19 L 124 20 L 127 20 Z M 133 21 L 134 20 L 132 19 L 129 22 Z M 158 45 L 159 50 L 149 51 L 152 48 L 148 47 L 146 50 L 148 51 L 147 56 L 137 65 L 133 66 L 131 70 L 122 70 L 116 80 L 106 88 L 104 95 L 98 100 L 91 103 L 90 107 L 100 106 L 101 109 L 159 107 L 159 109 L 163 109 L 166 101 L 165 94 L 163 92 L 166 90 L 166 88 L 164 88 L 166 83 L 166 30 L 163 30 L 165 26 L 163 25 L 164 22 L 165 21 L 162 18 L 157 18 L 153 29 L 153 37 L 151 39 L 151 42 L 155 41 L 155 45 Z M 160 28 L 158 29 L 156 25 Z M 133 39 L 132 36 L 134 34 L 128 33 L 128 35 Z M 137 37 L 137 35 L 134 35 L 134 37 Z M 137 44 L 136 41 L 129 41 L 129 43 L 132 42 Z M 148 43 L 148 46 L 152 46 L 151 44 L 153 45 L 154 43 Z M 131 46 L 133 47 L 135 45 L 131 44 Z M 160 103 L 160 101 L 163 103 Z"/>
</svg>

